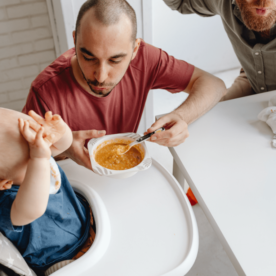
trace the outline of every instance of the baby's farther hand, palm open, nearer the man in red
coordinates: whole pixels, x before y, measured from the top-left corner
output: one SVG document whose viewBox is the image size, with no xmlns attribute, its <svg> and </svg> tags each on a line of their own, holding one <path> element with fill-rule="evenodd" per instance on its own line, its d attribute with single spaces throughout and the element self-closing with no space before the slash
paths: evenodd
<svg viewBox="0 0 276 276">
<path fill-rule="evenodd" d="M 33 110 L 29 111 L 29 115 L 38 123 L 28 120 L 30 127 L 38 132 L 41 126 L 44 127 L 43 138 L 47 138 L 49 135 L 54 134 L 51 138 L 51 143 L 55 144 L 66 131 L 66 123 L 60 117 L 60 115 L 52 115 L 51 111 L 45 113 L 45 119 L 36 114 Z"/>
</svg>

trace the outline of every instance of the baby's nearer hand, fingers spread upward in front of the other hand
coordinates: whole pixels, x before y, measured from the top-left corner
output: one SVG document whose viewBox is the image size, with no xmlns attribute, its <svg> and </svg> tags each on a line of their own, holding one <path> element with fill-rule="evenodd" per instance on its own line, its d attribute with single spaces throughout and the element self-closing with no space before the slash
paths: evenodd
<svg viewBox="0 0 276 276">
<path fill-rule="evenodd" d="M 30 158 L 47 158 L 51 157 L 51 149 L 52 145 L 51 140 L 54 138 L 54 134 L 50 134 L 49 136 L 43 138 L 42 134 L 45 131 L 44 127 L 40 126 L 40 129 L 37 133 L 30 130 L 29 121 L 23 120 L 22 118 L 18 119 L 19 121 L 19 130 L 26 141 L 29 143 L 30 148 Z"/>
</svg>

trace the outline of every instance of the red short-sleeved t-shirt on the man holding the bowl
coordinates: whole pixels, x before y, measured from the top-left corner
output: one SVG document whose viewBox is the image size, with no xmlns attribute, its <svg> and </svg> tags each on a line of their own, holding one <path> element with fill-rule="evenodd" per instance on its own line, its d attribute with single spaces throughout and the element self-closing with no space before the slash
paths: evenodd
<svg viewBox="0 0 276 276">
<path fill-rule="evenodd" d="M 150 89 L 183 91 L 194 66 L 177 60 L 141 40 L 136 57 L 108 96 L 96 97 L 76 81 L 71 67 L 72 48 L 46 67 L 32 82 L 26 105 L 44 116 L 60 114 L 72 131 L 105 130 L 106 134 L 136 132 Z"/>
</svg>

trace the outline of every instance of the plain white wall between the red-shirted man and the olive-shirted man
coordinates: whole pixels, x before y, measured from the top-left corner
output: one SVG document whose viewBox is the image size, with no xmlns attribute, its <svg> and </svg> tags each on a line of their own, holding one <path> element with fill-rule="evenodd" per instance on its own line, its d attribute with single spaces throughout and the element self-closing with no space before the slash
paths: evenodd
<svg viewBox="0 0 276 276">
<path fill-rule="evenodd" d="M 209 73 L 240 66 L 220 16 L 183 15 L 162 0 L 152 3 L 154 46 Z"/>
</svg>

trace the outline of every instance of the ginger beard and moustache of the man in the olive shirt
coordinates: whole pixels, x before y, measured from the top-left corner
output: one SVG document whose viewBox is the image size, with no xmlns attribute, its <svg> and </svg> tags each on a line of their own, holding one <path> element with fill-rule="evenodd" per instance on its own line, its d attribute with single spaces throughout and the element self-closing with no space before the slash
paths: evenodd
<svg viewBox="0 0 276 276">
<path fill-rule="evenodd" d="M 248 3 L 246 0 L 236 0 L 241 11 L 244 24 L 248 29 L 256 32 L 269 30 L 276 21 L 276 5 L 274 1 L 254 0 Z M 257 15 L 253 7 L 269 7 L 265 15 Z"/>
</svg>

